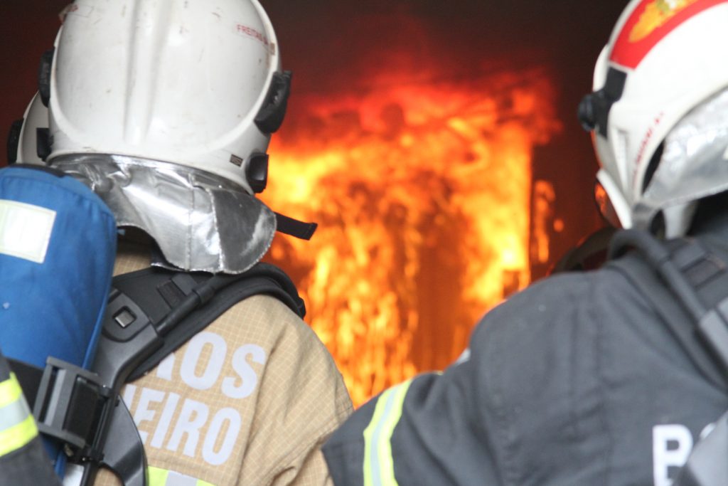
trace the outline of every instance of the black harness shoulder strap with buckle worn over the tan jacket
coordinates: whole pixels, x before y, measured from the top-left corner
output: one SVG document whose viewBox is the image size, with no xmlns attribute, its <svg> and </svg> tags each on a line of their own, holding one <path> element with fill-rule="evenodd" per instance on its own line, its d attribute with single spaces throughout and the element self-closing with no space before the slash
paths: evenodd
<svg viewBox="0 0 728 486">
<path fill-rule="evenodd" d="M 158 267 L 119 275 L 112 281 L 94 372 L 55 358 L 45 369 L 12 363 L 41 432 L 74 446 L 74 461 L 84 463 L 82 484 L 93 482 L 99 465 L 126 486 L 146 484 L 143 444 L 119 389 L 237 302 L 258 294 L 279 299 L 301 318 L 306 314 L 296 286 L 271 264 L 258 263 L 240 275 Z"/>
</svg>

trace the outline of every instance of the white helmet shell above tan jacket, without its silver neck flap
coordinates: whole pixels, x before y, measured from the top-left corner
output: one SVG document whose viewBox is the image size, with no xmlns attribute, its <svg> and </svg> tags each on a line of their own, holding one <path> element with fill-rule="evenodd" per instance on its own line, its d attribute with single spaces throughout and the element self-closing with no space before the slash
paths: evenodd
<svg viewBox="0 0 728 486">
<path fill-rule="evenodd" d="M 290 74 L 258 0 L 78 2 L 46 62 L 51 164 L 115 154 L 265 187 Z"/>
</svg>

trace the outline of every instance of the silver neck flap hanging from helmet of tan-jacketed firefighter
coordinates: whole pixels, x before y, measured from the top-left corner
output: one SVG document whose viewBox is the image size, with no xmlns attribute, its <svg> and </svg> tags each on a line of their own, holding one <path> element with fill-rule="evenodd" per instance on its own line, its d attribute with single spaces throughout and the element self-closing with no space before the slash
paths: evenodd
<svg viewBox="0 0 728 486">
<path fill-rule="evenodd" d="M 71 174 L 111 208 L 119 227 L 137 227 L 183 270 L 242 273 L 268 251 L 275 214 L 244 189 L 182 165 L 119 155 L 68 155 Z"/>
</svg>

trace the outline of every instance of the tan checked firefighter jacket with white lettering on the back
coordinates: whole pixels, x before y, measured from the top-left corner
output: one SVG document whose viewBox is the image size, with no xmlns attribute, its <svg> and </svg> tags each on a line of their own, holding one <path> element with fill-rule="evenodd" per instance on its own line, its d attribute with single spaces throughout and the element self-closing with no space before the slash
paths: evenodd
<svg viewBox="0 0 728 486">
<path fill-rule="evenodd" d="M 114 274 L 148 267 L 148 255 L 120 243 Z M 150 486 L 330 485 L 319 447 L 352 411 L 316 334 L 263 295 L 227 310 L 122 396 Z M 119 481 L 100 471 L 95 485 Z"/>
</svg>

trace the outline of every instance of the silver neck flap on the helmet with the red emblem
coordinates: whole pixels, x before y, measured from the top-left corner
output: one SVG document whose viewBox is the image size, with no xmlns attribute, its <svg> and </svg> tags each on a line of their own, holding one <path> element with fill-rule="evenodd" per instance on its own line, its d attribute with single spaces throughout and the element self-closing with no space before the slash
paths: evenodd
<svg viewBox="0 0 728 486">
<path fill-rule="evenodd" d="M 662 160 L 635 211 L 649 224 L 660 210 L 689 211 L 686 203 L 728 189 L 728 89 L 683 117 L 665 138 Z M 639 221 L 638 221 L 639 220 Z"/>
</svg>

